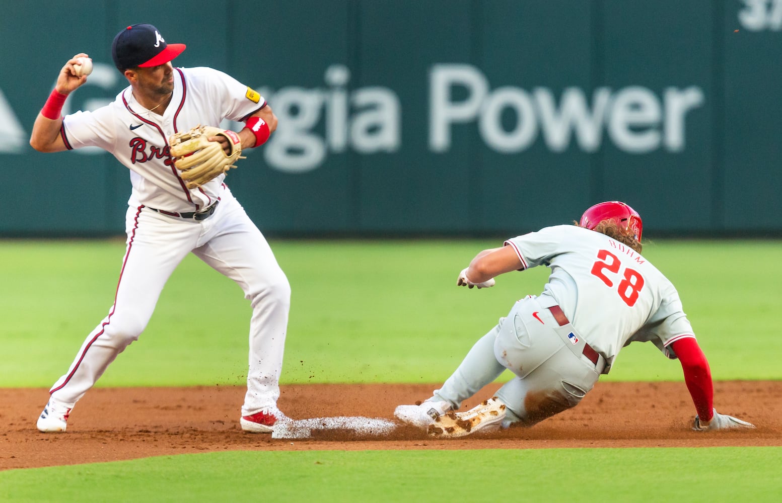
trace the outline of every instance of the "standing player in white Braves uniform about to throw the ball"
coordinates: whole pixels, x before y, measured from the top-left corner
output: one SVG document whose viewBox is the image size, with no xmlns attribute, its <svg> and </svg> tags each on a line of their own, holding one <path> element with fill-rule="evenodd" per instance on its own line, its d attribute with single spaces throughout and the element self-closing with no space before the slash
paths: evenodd
<svg viewBox="0 0 782 503">
<path fill-rule="evenodd" d="M 167 44 L 150 24 L 129 26 L 112 46 L 115 66 L 130 84 L 117 99 L 94 112 L 60 116 L 66 96 L 88 78 L 77 77 L 74 63 L 87 56 L 78 54 L 60 70 L 35 120 L 30 144 L 36 150 L 103 148 L 130 169 L 133 186 L 125 219 L 127 248 L 113 305 L 52 387 L 38 418 L 43 432 L 66 430 L 74 404 L 142 334 L 163 285 L 190 252 L 239 284 L 253 309 L 242 429 L 271 432 L 276 421 L 286 419 L 277 400 L 290 305 L 288 280 L 263 234 L 224 183 L 225 175 L 188 189 L 168 144 L 174 133 L 229 119 L 247 124 L 238 133 L 242 148 L 256 147 L 274 131 L 277 118 L 256 91 L 225 73 L 174 68 L 171 60 L 184 50 L 185 45 Z M 211 140 L 228 148 L 224 138 Z"/>
</svg>

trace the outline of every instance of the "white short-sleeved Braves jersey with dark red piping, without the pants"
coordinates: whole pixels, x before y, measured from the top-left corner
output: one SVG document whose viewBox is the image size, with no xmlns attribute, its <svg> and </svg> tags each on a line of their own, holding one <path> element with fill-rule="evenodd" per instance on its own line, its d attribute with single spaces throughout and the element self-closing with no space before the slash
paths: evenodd
<svg viewBox="0 0 782 503">
<path fill-rule="evenodd" d="M 221 175 L 188 190 L 169 155 L 168 137 L 199 124 L 240 121 L 266 104 L 256 91 L 212 68 L 175 68 L 174 94 L 163 115 L 139 105 L 131 87 L 94 112 L 75 112 L 63 120 L 67 148 L 100 147 L 131 170 L 128 204 L 168 212 L 192 212 L 221 194 Z"/>
</svg>

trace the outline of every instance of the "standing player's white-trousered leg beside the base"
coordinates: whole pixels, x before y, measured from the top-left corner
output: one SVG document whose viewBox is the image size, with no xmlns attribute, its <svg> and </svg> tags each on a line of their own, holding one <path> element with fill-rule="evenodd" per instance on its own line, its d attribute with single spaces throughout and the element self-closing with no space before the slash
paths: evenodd
<svg viewBox="0 0 782 503">
<path fill-rule="evenodd" d="M 267 413 L 275 418 L 284 417 L 277 408 L 277 400 L 290 309 L 288 279 L 263 234 L 230 193 L 221 199 L 213 218 L 213 230 L 206 236 L 208 241 L 193 253 L 239 284 L 253 308 L 242 417 Z M 260 419 L 262 423 L 274 423 L 274 418 Z M 242 427 L 245 423 L 242 420 Z M 271 424 L 261 424 L 257 431 L 271 431 Z M 246 429 L 252 426 L 247 425 Z"/>
</svg>

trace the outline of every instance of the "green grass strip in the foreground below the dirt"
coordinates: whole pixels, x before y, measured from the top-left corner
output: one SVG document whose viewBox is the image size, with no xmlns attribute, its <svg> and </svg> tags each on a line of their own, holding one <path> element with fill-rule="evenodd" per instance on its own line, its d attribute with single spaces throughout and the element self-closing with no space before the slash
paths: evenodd
<svg viewBox="0 0 782 503">
<path fill-rule="evenodd" d="M 0 472 L 0 499 L 763 503 L 778 501 L 782 491 L 779 453 L 778 448 L 221 452 Z"/>
</svg>

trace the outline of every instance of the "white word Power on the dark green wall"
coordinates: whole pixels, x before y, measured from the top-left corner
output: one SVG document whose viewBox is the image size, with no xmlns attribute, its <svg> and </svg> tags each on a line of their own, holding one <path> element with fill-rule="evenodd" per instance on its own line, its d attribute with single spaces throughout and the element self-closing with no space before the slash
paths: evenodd
<svg viewBox="0 0 782 503">
<path fill-rule="evenodd" d="M 454 99 L 456 87 L 464 88 L 467 97 Z M 512 86 L 492 91 L 478 68 L 463 64 L 432 66 L 429 97 L 429 147 L 434 152 L 450 150 L 453 127 L 476 121 L 482 140 L 497 152 L 523 152 L 541 135 L 553 152 L 569 148 L 572 137 L 580 149 L 594 152 L 603 130 L 624 152 L 680 152 L 687 113 L 705 102 L 700 87 L 668 87 L 661 99 L 647 87 L 630 86 L 617 91 L 598 87 L 590 102 L 579 87 L 567 87 L 557 104 L 554 91 L 546 87 L 532 93 Z M 516 119 L 511 130 L 501 121 L 506 110 Z"/>
</svg>

